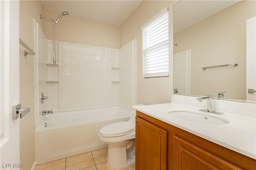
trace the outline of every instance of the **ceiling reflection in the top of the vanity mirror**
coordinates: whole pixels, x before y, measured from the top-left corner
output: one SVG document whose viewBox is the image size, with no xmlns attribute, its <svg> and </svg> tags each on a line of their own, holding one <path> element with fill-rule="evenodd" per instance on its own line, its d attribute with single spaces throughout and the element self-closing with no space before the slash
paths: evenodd
<svg viewBox="0 0 256 170">
<path fill-rule="evenodd" d="M 174 5 L 174 34 L 240 0 L 182 0 Z"/>
</svg>

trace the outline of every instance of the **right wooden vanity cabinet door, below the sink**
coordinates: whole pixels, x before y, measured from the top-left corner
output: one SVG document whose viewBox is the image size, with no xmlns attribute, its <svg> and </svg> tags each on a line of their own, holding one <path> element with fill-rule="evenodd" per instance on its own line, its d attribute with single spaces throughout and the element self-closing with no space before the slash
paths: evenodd
<svg viewBox="0 0 256 170">
<path fill-rule="evenodd" d="M 174 170 L 240 170 L 237 166 L 173 135 Z"/>
</svg>

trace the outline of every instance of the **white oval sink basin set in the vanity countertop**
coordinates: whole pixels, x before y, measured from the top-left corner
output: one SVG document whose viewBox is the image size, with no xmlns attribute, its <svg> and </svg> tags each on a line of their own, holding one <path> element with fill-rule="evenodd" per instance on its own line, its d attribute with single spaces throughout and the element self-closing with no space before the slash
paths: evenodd
<svg viewBox="0 0 256 170">
<path fill-rule="evenodd" d="M 194 123 L 207 124 L 207 125 L 228 124 L 228 121 L 224 121 L 216 117 L 203 115 L 193 111 L 169 111 L 168 114 L 170 114 L 173 117 L 177 117 L 179 119 L 184 119 L 186 121 L 191 121 Z"/>
</svg>

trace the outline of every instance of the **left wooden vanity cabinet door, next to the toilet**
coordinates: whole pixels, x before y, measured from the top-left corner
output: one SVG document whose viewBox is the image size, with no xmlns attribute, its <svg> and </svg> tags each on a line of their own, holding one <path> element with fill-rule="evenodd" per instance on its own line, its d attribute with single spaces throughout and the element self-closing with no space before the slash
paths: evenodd
<svg viewBox="0 0 256 170">
<path fill-rule="evenodd" d="M 167 131 L 136 117 L 136 170 L 166 170 Z"/>
</svg>

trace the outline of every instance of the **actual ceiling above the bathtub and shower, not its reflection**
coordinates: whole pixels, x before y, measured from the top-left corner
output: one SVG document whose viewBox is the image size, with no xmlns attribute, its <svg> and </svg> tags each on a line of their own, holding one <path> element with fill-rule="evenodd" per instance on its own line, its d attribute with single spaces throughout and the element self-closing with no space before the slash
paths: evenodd
<svg viewBox="0 0 256 170">
<path fill-rule="evenodd" d="M 142 0 L 43 0 L 45 10 L 120 26 Z M 47 16 L 51 18 L 50 16 Z"/>
</svg>

